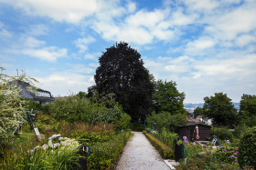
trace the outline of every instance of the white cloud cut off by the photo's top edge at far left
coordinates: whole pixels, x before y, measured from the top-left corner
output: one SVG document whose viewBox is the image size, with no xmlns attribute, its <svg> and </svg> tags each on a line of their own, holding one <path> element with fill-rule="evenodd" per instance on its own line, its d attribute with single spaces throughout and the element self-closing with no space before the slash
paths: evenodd
<svg viewBox="0 0 256 170">
<path fill-rule="evenodd" d="M 2 0 L 9 5 L 23 9 L 27 15 L 48 16 L 56 21 L 79 23 L 86 16 L 98 10 L 95 0 Z"/>
</svg>

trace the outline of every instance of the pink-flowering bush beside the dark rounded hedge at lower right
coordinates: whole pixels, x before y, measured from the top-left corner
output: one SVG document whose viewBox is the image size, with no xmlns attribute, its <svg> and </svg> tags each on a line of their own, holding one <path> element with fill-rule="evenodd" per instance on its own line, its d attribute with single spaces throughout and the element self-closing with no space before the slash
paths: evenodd
<svg viewBox="0 0 256 170">
<path fill-rule="evenodd" d="M 239 147 L 222 147 L 216 151 L 216 157 L 220 161 L 232 165 L 238 165 Z"/>
</svg>

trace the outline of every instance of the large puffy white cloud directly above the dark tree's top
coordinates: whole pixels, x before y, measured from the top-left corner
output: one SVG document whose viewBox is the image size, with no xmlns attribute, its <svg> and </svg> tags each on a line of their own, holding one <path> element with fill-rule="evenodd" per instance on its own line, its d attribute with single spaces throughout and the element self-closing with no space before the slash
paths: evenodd
<svg viewBox="0 0 256 170">
<path fill-rule="evenodd" d="M 174 30 L 170 29 L 171 24 L 167 20 L 169 10 L 156 9 L 154 11 L 140 10 L 133 15 L 120 21 L 112 18 L 105 21 L 93 22 L 92 28 L 102 35 L 106 40 L 127 41 L 136 45 L 146 45 L 154 40 L 169 41 L 175 35 Z"/>
</svg>

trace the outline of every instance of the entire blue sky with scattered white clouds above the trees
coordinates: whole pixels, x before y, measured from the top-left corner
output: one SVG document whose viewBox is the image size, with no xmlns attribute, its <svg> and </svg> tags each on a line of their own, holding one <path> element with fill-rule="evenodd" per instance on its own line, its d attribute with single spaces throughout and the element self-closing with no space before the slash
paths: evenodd
<svg viewBox="0 0 256 170">
<path fill-rule="evenodd" d="M 0 0 L 0 66 L 53 95 L 87 91 L 105 48 L 125 41 L 186 103 L 256 95 L 256 0 Z"/>
</svg>

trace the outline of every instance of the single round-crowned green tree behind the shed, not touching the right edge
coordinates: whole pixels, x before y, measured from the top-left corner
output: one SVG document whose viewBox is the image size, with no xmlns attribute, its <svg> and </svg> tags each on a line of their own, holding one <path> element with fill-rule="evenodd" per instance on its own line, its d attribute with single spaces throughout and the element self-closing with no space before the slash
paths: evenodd
<svg viewBox="0 0 256 170">
<path fill-rule="evenodd" d="M 226 94 L 215 93 L 215 96 L 207 96 L 204 100 L 204 115 L 214 118 L 215 124 L 232 126 L 236 123 L 236 109 Z"/>
</svg>

